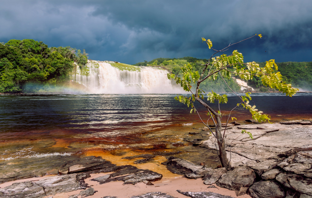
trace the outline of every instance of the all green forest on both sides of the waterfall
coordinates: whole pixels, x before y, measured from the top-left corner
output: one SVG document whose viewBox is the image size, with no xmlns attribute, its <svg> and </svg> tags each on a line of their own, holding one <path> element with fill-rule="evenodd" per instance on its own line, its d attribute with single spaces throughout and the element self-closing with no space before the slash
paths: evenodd
<svg viewBox="0 0 312 198">
<path fill-rule="evenodd" d="M 56 87 L 67 81 L 69 73 L 74 67 L 74 62 L 83 66 L 87 63 L 87 53 L 71 47 L 48 47 L 43 42 L 32 39 L 9 40 L 0 42 L 0 93 L 30 93 L 39 89 Z M 194 71 L 201 72 L 207 59 L 194 57 L 183 58 L 156 58 L 150 62 L 138 62 L 136 66 L 155 66 L 178 73 L 185 64 L 191 64 Z M 265 62 L 260 62 L 264 66 Z M 280 62 L 276 63 L 278 71 L 283 75 L 283 80 L 294 87 L 312 91 L 312 62 Z M 234 90 L 240 87 L 232 78 L 225 79 Z M 261 92 L 269 91 L 263 87 L 261 79 L 253 78 L 248 82 L 252 87 Z M 40 84 L 40 88 L 38 88 Z M 230 92 L 223 79 L 217 78 L 213 82 L 202 82 L 204 91 Z"/>
</svg>

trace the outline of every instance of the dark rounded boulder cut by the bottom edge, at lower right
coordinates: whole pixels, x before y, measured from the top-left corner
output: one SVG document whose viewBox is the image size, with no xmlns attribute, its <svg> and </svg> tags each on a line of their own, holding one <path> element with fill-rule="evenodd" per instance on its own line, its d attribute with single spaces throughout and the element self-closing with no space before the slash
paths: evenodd
<svg viewBox="0 0 312 198">
<path fill-rule="evenodd" d="M 252 198 L 283 198 L 284 189 L 274 181 L 255 182 L 248 190 Z"/>
</svg>

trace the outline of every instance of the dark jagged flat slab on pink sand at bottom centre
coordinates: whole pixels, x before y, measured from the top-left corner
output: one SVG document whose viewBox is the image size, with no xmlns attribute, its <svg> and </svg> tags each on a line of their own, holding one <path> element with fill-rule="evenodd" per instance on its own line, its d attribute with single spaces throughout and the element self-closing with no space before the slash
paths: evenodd
<svg viewBox="0 0 312 198">
<path fill-rule="evenodd" d="M 124 184 L 135 184 L 142 181 L 158 181 L 163 175 L 150 171 L 138 169 L 135 166 L 123 166 L 115 173 L 100 176 L 92 179 L 91 181 L 97 181 L 100 184 L 105 184 L 111 181 L 124 181 Z"/>
</svg>

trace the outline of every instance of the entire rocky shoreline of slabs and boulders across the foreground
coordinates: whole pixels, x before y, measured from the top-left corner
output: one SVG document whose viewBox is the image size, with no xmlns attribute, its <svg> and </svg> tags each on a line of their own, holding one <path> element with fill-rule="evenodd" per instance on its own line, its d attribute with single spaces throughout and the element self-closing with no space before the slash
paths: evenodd
<svg viewBox="0 0 312 198">
<path fill-rule="evenodd" d="M 241 134 L 244 129 L 251 132 L 254 139 Z M 205 129 L 198 129 L 203 131 Z M 205 133 L 207 131 L 204 131 Z M 214 138 L 202 132 L 193 133 L 192 138 L 185 141 L 193 142 L 193 146 L 216 150 Z M 312 123 L 310 121 L 281 122 L 275 124 L 249 124 L 231 126 L 226 132 L 226 149 L 231 158 L 232 168 L 206 168 L 204 164 L 195 165 L 189 161 L 172 157 L 174 152 L 167 152 L 168 161 L 163 165 L 173 173 L 190 179 L 202 178 L 206 185 L 217 185 L 236 191 L 236 196 L 248 194 L 253 198 L 309 198 L 312 197 Z M 136 163 L 153 161 L 157 155 L 145 154 L 129 156 Z M 128 158 L 129 158 L 128 157 Z M 17 182 L 0 188 L 0 197 L 53 197 L 58 193 L 75 192 L 64 197 L 107 197 L 96 194 L 94 186 L 85 182 L 92 174 L 90 181 L 107 184 L 122 181 L 123 184 L 153 185 L 162 181 L 163 175 L 154 171 L 139 169 L 135 166 L 116 166 L 110 161 L 96 156 L 47 156 L 30 159 L 33 171 L 25 171 L 22 164 L 14 160 L 2 162 L 0 183 L 19 179 L 53 175 L 37 181 Z M 38 178 L 39 179 L 39 178 Z M 195 180 L 194 180 L 195 181 Z M 153 182 L 153 183 L 152 183 Z M 118 191 L 118 186 L 115 187 Z M 201 192 L 187 192 L 183 189 L 172 189 L 189 197 L 228 197 L 214 194 L 212 188 Z M 80 192 L 77 192 L 80 190 Z M 95 194 L 94 194 L 95 193 Z M 93 196 L 94 194 L 94 196 Z M 130 196 L 129 196 L 130 197 Z M 173 197 L 168 193 L 150 192 L 134 197 Z M 120 197 L 119 197 L 120 198 Z M 126 198 L 126 197 L 125 197 Z M 127 197 L 128 198 L 128 197 Z M 174 197 L 173 197 L 174 198 Z"/>
</svg>

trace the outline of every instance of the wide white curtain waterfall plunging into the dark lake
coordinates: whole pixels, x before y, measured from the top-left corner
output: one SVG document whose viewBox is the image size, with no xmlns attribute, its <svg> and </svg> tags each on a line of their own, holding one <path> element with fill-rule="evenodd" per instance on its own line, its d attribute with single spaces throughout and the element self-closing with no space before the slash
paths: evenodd
<svg viewBox="0 0 312 198">
<path fill-rule="evenodd" d="M 111 62 L 114 63 L 114 62 Z M 167 78 L 167 70 L 157 67 L 116 68 L 110 62 L 90 61 L 71 75 L 88 93 L 185 93 Z"/>
</svg>

